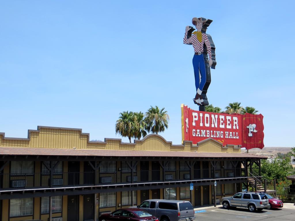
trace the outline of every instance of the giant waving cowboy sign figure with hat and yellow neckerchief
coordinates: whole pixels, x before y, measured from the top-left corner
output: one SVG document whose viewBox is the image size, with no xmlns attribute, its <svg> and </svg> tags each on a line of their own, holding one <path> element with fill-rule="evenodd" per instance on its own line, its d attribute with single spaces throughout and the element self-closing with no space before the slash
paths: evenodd
<svg viewBox="0 0 295 221">
<path fill-rule="evenodd" d="M 196 96 L 193 99 L 194 103 L 199 106 L 209 105 L 207 100 L 207 89 L 211 82 L 211 73 L 210 67 L 215 62 L 215 46 L 211 39 L 210 35 L 206 34 L 206 29 L 212 20 L 204 18 L 193 18 L 192 23 L 196 26 L 196 32 L 193 32 L 195 29 L 190 26 L 186 26 L 185 35 L 183 38 L 184 44 L 191 44 L 194 47 L 194 57 L 193 57 L 193 66 L 194 66 L 194 75 L 195 75 L 195 85 L 196 85 Z M 209 38 L 208 38 L 209 36 Z M 207 48 L 208 58 L 204 53 L 206 53 L 206 48 L 204 50 L 204 44 Z M 213 46 L 213 48 L 211 47 Z M 212 60 L 212 49 L 214 54 L 214 59 Z M 206 62 L 205 62 L 206 60 Z M 209 62 L 208 62 L 209 60 Z"/>
</svg>

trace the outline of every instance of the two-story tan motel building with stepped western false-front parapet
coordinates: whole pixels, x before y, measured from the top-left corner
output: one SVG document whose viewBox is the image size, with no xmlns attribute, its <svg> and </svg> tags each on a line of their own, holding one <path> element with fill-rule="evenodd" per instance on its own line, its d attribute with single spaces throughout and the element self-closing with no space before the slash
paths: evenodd
<svg viewBox="0 0 295 221">
<path fill-rule="evenodd" d="M 81 129 L 45 126 L 28 138 L 0 133 L 0 221 L 94 220 L 158 198 L 212 204 L 248 188 L 265 158 L 212 138 L 197 145 L 173 145 L 156 134 L 93 142 Z"/>
</svg>

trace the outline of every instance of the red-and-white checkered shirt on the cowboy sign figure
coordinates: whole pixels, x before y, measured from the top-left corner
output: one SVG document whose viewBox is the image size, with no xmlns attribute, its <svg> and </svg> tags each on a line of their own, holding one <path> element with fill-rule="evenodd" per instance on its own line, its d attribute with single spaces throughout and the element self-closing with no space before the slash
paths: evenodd
<svg viewBox="0 0 295 221">
<path fill-rule="evenodd" d="M 191 37 L 187 39 L 187 32 L 185 33 L 183 38 L 183 44 L 192 44 L 195 52 L 204 52 L 204 47 L 203 47 L 204 43 L 206 44 L 206 47 L 207 47 L 209 59 L 212 59 L 211 45 L 207 37 L 207 34 L 202 33 L 201 42 L 198 41 L 197 36 L 195 34 L 192 34 Z"/>
</svg>

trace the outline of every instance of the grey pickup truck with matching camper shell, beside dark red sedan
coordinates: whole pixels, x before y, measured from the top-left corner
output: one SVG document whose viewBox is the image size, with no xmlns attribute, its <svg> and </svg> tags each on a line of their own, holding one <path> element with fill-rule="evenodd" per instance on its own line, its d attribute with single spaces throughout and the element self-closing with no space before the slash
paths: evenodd
<svg viewBox="0 0 295 221">
<path fill-rule="evenodd" d="M 138 208 L 158 217 L 160 221 L 189 221 L 194 220 L 194 208 L 189 201 L 148 199 Z"/>
</svg>

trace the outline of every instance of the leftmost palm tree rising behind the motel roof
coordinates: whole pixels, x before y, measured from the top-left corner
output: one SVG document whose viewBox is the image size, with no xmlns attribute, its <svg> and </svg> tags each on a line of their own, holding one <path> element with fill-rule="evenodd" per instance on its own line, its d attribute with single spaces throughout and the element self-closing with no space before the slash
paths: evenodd
<svg viewBox="0 0 295 221">
<path fill-rule="evenodd" d="M 119 133 L 123 137 L 128 137 L 131 143 L 131 137 L 134 137 L 137 130 L 137 119 L 132 111 L 123 111 L 116 122 L 116 134 Z"/>
</svg>

